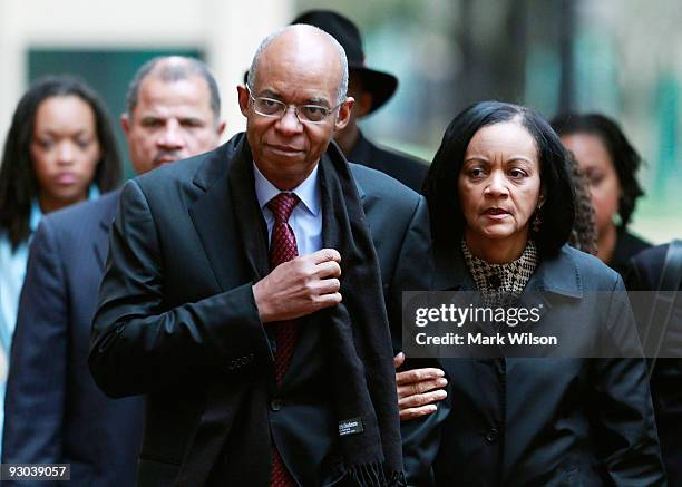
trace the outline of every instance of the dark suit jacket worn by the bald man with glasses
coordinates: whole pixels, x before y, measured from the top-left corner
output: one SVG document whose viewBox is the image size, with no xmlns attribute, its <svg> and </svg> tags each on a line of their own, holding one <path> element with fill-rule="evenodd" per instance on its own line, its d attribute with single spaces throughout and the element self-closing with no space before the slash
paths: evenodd
<svg viewBox="0 0 682 487">
<path fill-rule="evenodd" d="M 343 475 L 320 330 L 303 330 L 282 384 L 274 384 L 271 344 L 243 250 L 251 243 L 241 240 L 225 171 L 227 158 L 238 154 L 233 139 L 140 176 L 123 192 L 94 321 L 90 369 L 108 395 L 148 393 L 140 485 L 176 480 L 199 441 L 197 423 L 207 420 L 212 398 L 225 388 L 246 390 L 247 403 L 265 392 L 231 426 L 225 455 L 213 466 L 216 484 L 269 484 L 269 471 L 259 478 L 244 478 L 243 471 L 253 457 L 267 457 L 270 448 L 244 455 L 250 445 L 231 439 L 259 421 L 270 425 L 301 485 L 329 485 Z M 379 172 L 351 169 L 376 245 L 389 320 L 399 329 L 401 291 L 428 285 L 422 282 L 430 252 L 426 203 Z M 265 231 L 260 211 L 253 225 Z"/>
</svg>

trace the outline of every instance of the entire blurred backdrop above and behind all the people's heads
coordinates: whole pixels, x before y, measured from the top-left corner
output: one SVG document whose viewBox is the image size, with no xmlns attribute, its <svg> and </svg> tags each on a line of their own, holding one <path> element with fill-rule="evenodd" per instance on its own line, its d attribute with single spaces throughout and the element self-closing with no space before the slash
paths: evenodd
<svg viewBox="0 0 682 487">
<path fill-rule="evenodd" d="M 298 12 L 328 8 L 360 27 L 370 66 L 397 75 L 363 120 L 378 142 L 431 159 L 450 119 L 481 99 L 546 117 L 575 109 L 621 121 L 647 165 L 633 228 L 682 235 L 682 9 L 679 0 L 0 0 L 0 136 L 28 82 L 81 74 L 114 116 L 148 57 L 198 56 L 222 88 L 227 132 L 244 126 L 234 87 L 257 42 Z M 120 135 L 120 134 L 119 134 Z"/>
</svg>

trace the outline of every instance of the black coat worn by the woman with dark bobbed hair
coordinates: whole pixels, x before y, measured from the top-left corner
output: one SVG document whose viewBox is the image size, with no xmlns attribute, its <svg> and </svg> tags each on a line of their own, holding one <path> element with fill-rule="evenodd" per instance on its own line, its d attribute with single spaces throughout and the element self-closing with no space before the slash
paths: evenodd
<svg viewBox="0 0 682 487">
<path fill-rule="evenodd" d="M 460 251 L 437 249 L 436 269 L 438 289 L 476 289 Z M 583 309 L 591 302 L 585 293 L 623 290 L 623 283 L 597 259 L 564 246 L 539 264 L 524 293 L 533 290 L 544 290 L 554 303 L 537 325 L 561 314 L 591 316 L 575 322 L 576 333 L 591 341 L 604 323 Z M 643 359 L 442 359 L 442 364 L 452 411 L 440 431 L 437 485 L 664 484 Z"/>
</svg>

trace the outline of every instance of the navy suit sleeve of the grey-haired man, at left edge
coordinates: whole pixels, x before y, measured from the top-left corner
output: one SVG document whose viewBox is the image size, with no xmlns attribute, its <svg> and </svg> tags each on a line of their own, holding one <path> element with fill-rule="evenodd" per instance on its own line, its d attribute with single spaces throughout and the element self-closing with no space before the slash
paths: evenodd
<svg viewBox="0 0 682 487">
<path fill-rule="evenodd" d="M 43 221 L 31 244 L 10 358 L 2 462 L 62 458 L 69 312 L 55 238 Z"/>
</svg>

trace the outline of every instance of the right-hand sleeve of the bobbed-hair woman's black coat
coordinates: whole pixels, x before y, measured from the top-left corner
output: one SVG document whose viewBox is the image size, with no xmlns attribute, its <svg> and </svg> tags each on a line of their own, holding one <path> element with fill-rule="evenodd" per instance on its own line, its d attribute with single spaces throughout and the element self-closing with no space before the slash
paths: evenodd
<svg viewBox="0 0 682 487">
<path fill-rule="evenodd" d="M 661 449 L 649 387 L 646 361 L 632 358 L 639 345 L 625 286 L 615 282 L 608 311 L 608 334 L 622 344 L 622 357 L 596 359 L 592 380 L 596 408 L 594 438 L 614 485 L 665 485 Z"/>
</svg>

